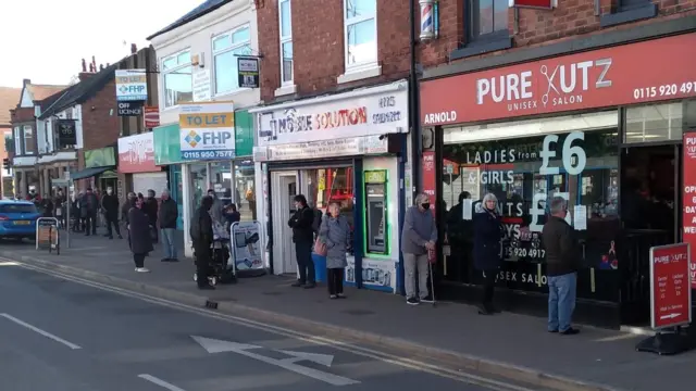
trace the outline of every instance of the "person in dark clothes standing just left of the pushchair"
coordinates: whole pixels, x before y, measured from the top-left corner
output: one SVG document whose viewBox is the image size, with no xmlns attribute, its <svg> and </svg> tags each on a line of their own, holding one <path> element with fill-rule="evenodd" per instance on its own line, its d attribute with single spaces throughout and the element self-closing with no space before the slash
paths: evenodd
<svg viewBox="0 0 696 391">
<path fill-rule="evenodd" d="M 213 206 L 211 197 L 203 197 L 200 207 L 191 216 L 189 235 L 194 242 L 194 258 L 196 260 L 196 280 L 198 289 L 215 289 L 208 282 L 210 275 L 211 249 L 213 242 L 213 219 L 210 209 Z"/>
</svg>

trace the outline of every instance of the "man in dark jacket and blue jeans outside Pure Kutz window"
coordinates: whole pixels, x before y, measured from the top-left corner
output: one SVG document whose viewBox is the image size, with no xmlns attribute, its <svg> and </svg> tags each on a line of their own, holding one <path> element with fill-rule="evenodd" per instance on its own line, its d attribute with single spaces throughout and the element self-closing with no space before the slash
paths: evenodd
<svg viewBox="0 0 696 391">
<path fill-rule="evenodd" d="M 574 230 L 566 222 L 568 203 L 561 197 L 551 200 L 551 216 L 542 230 L 546 248 L 548 276 L 548 331 L 572 336 L 580 330 L 571 326 L 575 310 L 575 290 L 580 266 L 580 249 Z"/>
</svg>

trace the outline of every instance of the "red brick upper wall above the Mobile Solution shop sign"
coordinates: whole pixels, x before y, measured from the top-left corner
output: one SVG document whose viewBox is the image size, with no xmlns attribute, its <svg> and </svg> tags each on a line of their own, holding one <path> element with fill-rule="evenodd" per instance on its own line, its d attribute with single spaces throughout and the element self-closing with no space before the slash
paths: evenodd
<svg viewBox="0 0 696 391">
<path fill-rule="evenodd" d="M 336 78 L 345 71 L 344 18 L 341 0 L 293 0 L 293 50 L 295 85 L 299 94 L 312 94 L 338 87 Z M 409 72 L 408 0 L 377 0 L 377 52 L 382 76 L 341 88 L 378 84 L 407 77 Z M 277 1 L 259 2 L 259 49 L 261 99 L 275 99 L 281 86 Z"/>
</svg>

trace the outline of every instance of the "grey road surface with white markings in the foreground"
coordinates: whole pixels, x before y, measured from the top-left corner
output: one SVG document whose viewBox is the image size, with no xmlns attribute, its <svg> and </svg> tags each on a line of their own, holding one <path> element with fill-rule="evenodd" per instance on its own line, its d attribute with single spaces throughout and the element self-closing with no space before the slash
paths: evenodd
<svg viewBox="0 0 696 391">
<path fill-rule="evenodd" d="M 7 391 L 523 390 L 472 384 L 0 265 L 0 379 Z"/>
</svg>

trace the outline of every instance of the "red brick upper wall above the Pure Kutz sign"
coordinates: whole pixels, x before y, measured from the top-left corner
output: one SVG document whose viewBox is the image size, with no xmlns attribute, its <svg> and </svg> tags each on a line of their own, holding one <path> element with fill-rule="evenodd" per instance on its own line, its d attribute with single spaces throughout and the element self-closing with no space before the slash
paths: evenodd
<svg viewBox="0 0 696 391">
<path fill-rule="evenodd" d="M 609 13 L 612 8 L 612 0 L 600 1 L 601 13 Z M 658 4 L 657 17 L 608 28 L 600 27 L 600 16 L 595 16 L 594 0 L 561 0 L 558 1 L 558 8 L 551 11 L 520 9 L 517 34 L 513 34 L 514 10 L 509 9 L 508 20 L 510 35 L 513 37 L 513 48 L 457 61 L 498 55 L 513 51 L 515 48 L 537 47 L 572 39 L 579 35 L 592 36 L 668 18 L 696 15 L 696 0 L 660 0 L 654 2 Z M 440 36 L 437 40 L 423 46 L 419 62 L 424 66 L 430 67 L 447 63 L 451 51 L 464 43 L 465 17 L 463 4 L 462 0 L 439 0 Z"/>
</svg>

